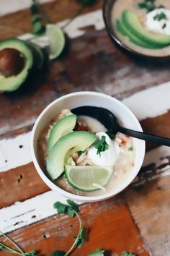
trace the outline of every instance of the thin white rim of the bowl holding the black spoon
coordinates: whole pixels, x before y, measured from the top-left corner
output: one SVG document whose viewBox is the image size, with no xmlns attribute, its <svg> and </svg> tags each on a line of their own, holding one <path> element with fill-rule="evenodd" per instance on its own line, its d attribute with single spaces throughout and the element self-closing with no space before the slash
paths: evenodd
<svg viewBox="0 0 170 256">
<path fill-rule="evenodd" d="M 106 194 L 103 195 L 98 195 L 98 196 L 81 196 L 81 195 L 75 195 L 72 194 L 70 192 L 67 192 L 64 189 L 61 189 L 60 187 L 58 187 L 57 185 L 55 185 L 52 181 L 50 181 L 50 179 L 48 179 L 48 176 L 45 175 L 45 173 L 42 171 L 42 169 L 40 168 L 40 165 L 37 161 L 37 157 L 35 155 L 35 132 L 37 130 L 37 127 L 39 126 L 40 120 L 42 119 L 42 116 L 44 116 L 44 114 L 56 103 L 58 103 L 59 101 L 63 101 L 63 99 L 66 98 L 70 98 L 71 96 L 74 95 L 97 95 L 100 97 L 104 97 L 107 98 L 109 100 L 115 101 L 118 105 L 124 107 L 126 109 L 126 111 L 128 112 L 128 114 L 130 114 L 130 116 L 133 117 L 133 120 L 135 122 L 135 124 L 138 125 L 138 131 L 143 132 L 142 127 L 140 126 L 140 123 L 138 121 L 138 119 L 135 117 L 135 115 L 133 114 L 132 111 L 130 111 L 130 109 L 125 106 L 122 102 L 118 101 L 116 98 L 113 98 L 112 96 L 109 95 L 105 95 L 104 93 L 97 93 L 97 92 L 91 92 L 91 91 L 84 91 L 84 92 L 76 92 L 76 93 L 68 93 L 66 95 L 61 96 L 60 98 L 55 99 L 53 102 L 51 102 L 50 104 L 48 104 L 48 106 L 45 107 L 45 109 L 40 113 L 40 115 L 37 117 L 37 120 L 35 121 L 35 124 L 32 128 L 32 135 L 31 135 L 31 155 L 32 155 L 32 161 L 35 165 L 35 169 L 37 171 L 37 173 L 40 175 L 41 179 L 43 180 L 43 182 L 45 182 L 45 184 L 48 185 L 48 187 L 50 187 L 50 189 L 52 189 L 55 192 L 59 192 L 60 195 L 63 195 L 64 197 L 67 198 L 71 198 L 72 200 L 76 200 L 76 201 L 80 201 L 80 202 L 97 202 L 97 201 L 101 201 L 101 200 L 107 200 L 110 197 L 114 197 L 115 195 L 117 195 L 118 193 L 122 192 L 122 190 L 124 190 L 126 187 L 128 187 L 128 185 L 133 181 L 133 179 L 135 179 L 135 177 L 138 175 L 138 172 L 140 171 L 140 167 L 142 166 L 143 163 L 143 159 L 145 156 L 145 151 L 146 151 L 146 142 L 143 142 L 142 145 L 142 151 L 140 152 L 140 163 L 138 171 L 134 171 L 134 175 L 133 178 L 130 179 L 130 182 L 125 182 L 125 184 L 122 186 L 122 189 L 118 189 L 117 192 L 108 192 Z"/>
</svg>

